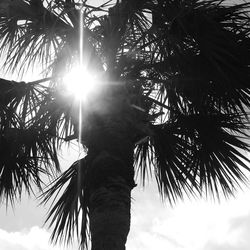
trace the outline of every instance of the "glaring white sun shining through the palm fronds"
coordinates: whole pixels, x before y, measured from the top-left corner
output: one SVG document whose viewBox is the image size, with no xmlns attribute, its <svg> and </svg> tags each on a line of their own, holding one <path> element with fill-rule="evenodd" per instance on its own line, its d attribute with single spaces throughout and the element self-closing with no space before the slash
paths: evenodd
<svg viewBox="0 0 250 250">
<path fill-rule="evenodd" d="M 72 94 L 77 100 L 86 101 L 98 85 L 93 73 L 84 67 L 74 67 L 63 77 L 63 84 L 66 91 Z"/>
</svg>

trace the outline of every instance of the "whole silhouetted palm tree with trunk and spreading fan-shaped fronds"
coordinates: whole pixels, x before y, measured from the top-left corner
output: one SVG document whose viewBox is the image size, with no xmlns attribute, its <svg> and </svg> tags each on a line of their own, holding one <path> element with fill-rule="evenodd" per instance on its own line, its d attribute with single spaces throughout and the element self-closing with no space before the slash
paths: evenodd
<svg viewBox="0 0 250 250">
<path fill-rule="evenodd" d="M 247 181 L 250 4 L 89 2 L 0 3 L 4 69 L 43 72 L 0 80 L 0 197 L 37 186 L 43 202 L 55 198 L 54 241 L 77 235 L 84 248 L 90 235 L 92 250 L 122 250 L 135 175 L 154 175 L 171 204 Z M 88 105 L 63 91 L 79 58 L 102 81 Z M 57 150 L 76 139 L 87 154 L 60 174 Z"/>
</svg>

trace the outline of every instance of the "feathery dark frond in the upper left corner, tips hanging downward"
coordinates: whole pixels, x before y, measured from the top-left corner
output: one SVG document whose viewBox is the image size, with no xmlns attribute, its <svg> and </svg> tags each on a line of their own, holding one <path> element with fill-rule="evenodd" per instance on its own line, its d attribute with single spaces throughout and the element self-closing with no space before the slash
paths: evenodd
<svg viewBox="0 0 250 250">
<path fill-rule="evenodd" d="M 4 67 L 12 72 L 19 67 L 21 73 L 35 64 L 46 69 L 71 30 L 64 16 L 51 12 L 41 1 L 9 1 L 6 12 L 0 12 Z"/>
</svg>

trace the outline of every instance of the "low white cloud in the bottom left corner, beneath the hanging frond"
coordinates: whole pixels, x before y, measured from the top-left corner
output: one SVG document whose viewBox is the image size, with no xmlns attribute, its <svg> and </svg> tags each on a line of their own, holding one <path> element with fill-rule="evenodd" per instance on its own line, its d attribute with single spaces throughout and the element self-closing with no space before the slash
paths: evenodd
<svg viewBox="0 0 250 250">
<path fill-rule="evenodd" d="M 21 232 L 0 229 L 1 250 L 73 250 L 73 247 L 51 245 L 49 238 L 50 233 L 37 226 Z"/>
</svg>

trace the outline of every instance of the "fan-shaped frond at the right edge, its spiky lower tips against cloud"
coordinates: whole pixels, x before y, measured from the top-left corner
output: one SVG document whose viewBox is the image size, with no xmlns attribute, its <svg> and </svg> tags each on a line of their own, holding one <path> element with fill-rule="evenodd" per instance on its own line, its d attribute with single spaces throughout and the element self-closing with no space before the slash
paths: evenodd
<svg viewBox="0 0 250 250">
<path fill-rule="evenodd" d="M 241 183 L 246 183 L 245 173 L 250 171 L 246 156 L 249 122 L 244 114 L 191 115 L 182 117 L 179 122 L 183 127 L 185 123 L 191 135 L 192 150 L 187 167 L 201 191 L 218 197 L 222 192 L 228 196 Z"/>
</svg>

